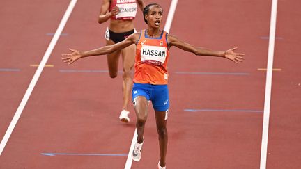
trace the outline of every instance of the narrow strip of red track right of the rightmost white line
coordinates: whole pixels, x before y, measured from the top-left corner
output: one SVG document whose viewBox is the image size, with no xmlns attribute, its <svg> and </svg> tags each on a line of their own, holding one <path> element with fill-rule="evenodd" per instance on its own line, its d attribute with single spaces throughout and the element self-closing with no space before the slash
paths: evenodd
<svg viewBox="0 0 301 169">
<path fill-rule="evenodd" d="M 300 1 L 278 1 L 267 168 L 301 168 Z"/>
</svg>

